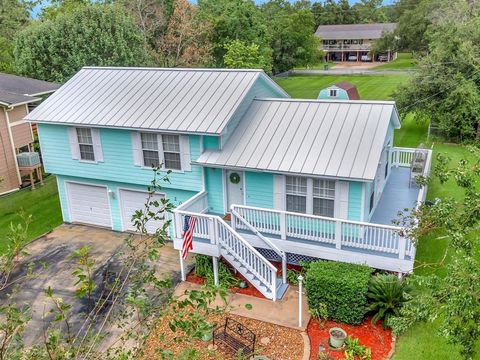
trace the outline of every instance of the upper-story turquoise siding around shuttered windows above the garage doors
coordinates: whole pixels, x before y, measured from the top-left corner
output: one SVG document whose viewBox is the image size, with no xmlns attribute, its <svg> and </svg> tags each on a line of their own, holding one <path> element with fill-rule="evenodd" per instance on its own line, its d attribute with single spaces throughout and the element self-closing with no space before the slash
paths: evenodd
<svg viewBox="0 0 480 360">
<path fill-rule="evenodd" d="M 149 185 L 153 171 L 133 163 L 131 134 L 128 130 L 100 129 L 104 161 L 87 163 L 73 160 L 68 142 L 67 126 L 38 124 L 40 144 L 47 172 L 102 181 Z M 190 136 L 191 158 L 200 155 L 200 136 Z M 192 165 L 192 171 L 173 172 L 165 188 L 198 192 L 202 189 L 201 168 Z"/>
</svg>

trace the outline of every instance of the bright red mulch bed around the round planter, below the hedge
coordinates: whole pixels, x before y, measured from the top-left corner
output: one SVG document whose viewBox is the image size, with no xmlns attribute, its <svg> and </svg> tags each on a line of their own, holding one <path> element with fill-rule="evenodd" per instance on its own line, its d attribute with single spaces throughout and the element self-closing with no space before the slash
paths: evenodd
<svg viewBox="0 0 480 360">
<path fill-rule="evenodd" d="M 392 332 L 385 330 L 379 321 L 372 324 L 371 318 L 366 319 L 360 325 L 347 325 L 336 323 L 334 321 L 325 321 L 322 325 L 316 319 L 311 319 L 308 323 L 307 333 L 310 338 L 310 359 L 318 359 L 318 348 L 320 344 L 324 346 L 326 352 L 329 352 L 335 359 L 343 359 L 343 351 L 329 350 L 328 329 L 340 327 L 347 332 L 348 336 L 358 338 L 361 345 L 365 345 L 372 350 L 372 360 L 384 360 L 387 358 L 392 348 Z"/>
</svg>

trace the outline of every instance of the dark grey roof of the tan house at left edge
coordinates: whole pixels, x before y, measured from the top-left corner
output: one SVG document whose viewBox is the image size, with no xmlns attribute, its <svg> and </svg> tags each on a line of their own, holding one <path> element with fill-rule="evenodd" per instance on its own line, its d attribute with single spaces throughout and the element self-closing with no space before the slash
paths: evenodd
<svg viewBox="0 0 480 360">
<path fill-rule="evenodd" d="M 61 85 L 43 80 L 0 73 L 0 90 L 10 93 L 38 96 L 50 94 Z"/>
</svg>

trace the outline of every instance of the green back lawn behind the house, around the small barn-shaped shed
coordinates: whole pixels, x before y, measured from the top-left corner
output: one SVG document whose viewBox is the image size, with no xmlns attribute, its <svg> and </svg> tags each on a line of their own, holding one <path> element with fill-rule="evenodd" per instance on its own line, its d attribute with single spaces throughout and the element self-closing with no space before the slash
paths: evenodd
<svg viewBox="0 0 480 360">
<path fill-rule="evenodd" d="M 389 100 L 397 86 L 407 80 L 408 75 L 301 75 L 275 79 L 290 96 L 305 99 L 315 99 L 321 89 L 348 81 L 366 100 Z"/>
</svg>

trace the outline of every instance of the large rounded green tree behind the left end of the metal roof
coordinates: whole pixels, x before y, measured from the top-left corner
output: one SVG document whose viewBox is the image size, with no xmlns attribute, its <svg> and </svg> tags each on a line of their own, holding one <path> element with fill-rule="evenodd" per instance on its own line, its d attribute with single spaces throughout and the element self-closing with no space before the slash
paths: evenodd
<svg viewBox="0 0 480 360">
<path fill-rule="evenodd" d="M 141 32 L 112 5 L 89 5 L 36 23 L 15 41 L 17 72 L 48 81 L 64 82 L 87 65 L 150 63 Z"/>
</svg>

